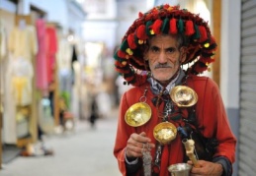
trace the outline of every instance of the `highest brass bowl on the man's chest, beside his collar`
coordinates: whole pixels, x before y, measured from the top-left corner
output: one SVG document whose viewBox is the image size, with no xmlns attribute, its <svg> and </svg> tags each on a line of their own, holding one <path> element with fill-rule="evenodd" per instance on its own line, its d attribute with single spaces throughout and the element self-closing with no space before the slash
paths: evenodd
<svg viewBox="0 0 256 176">
<path fill-rule="evenodd" d="M 172 88 L 170 96 L 179 107 L 190 107 L 198 102 L 197 92 L 189 87 L 177 86 Z"/>
</svg>

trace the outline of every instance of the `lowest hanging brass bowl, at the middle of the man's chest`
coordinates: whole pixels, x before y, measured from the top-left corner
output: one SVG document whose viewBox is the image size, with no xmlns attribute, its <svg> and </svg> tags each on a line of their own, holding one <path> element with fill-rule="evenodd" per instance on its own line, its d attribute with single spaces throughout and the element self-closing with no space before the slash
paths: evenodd
<svg viewBox="0 0 256 176">
<path fill-rule="evenodd" d="M 170 122 L 162 122 L 154 127 L 153 135 L 160 144 L 169 144 L 176 138 L 177 128 Z"/>
</svg>

